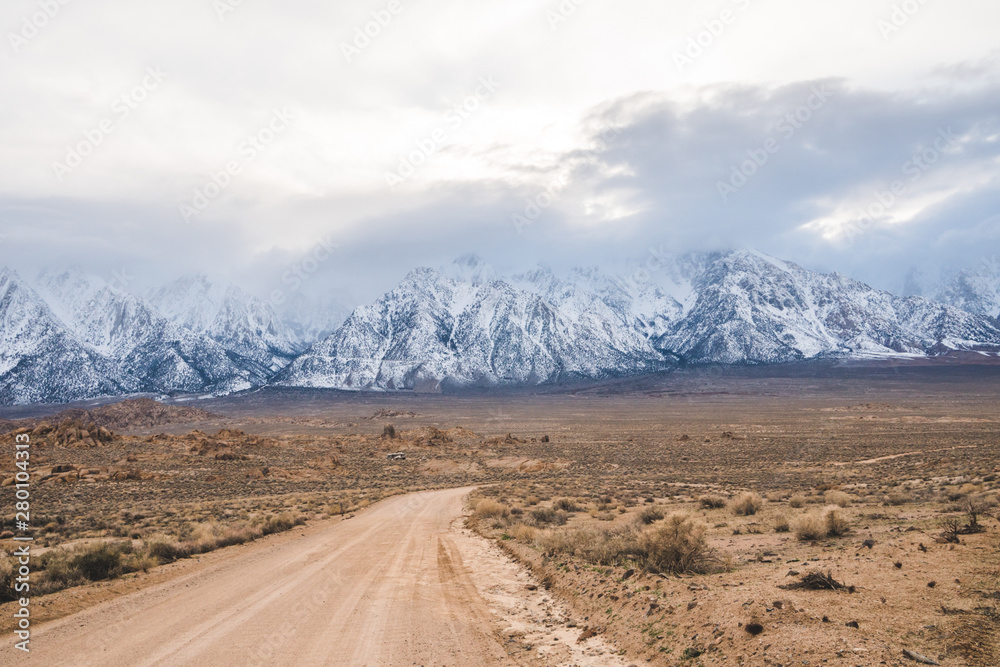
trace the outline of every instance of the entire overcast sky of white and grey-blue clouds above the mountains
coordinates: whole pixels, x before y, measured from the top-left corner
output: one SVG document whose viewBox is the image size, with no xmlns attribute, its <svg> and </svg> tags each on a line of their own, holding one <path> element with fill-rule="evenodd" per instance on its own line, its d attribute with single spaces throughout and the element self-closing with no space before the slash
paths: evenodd
<svg viewBox="0 0 1000 667">
<path fill-rule="evenodd" d="M 367 299 L 751 246 L 894 288 L 1000 250 L 994 0 L 9 0 L 0 264 Z M 319 253 L 326 257 L 325 252 Z"/>
</svg>

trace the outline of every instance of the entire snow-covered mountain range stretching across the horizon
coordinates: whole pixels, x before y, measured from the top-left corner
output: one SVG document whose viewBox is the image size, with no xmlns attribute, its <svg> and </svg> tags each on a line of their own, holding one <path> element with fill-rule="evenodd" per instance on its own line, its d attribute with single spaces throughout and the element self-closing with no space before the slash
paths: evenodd
<svg viewBox="0 0 1000 667">
<path fill-rule="evenodd" d="M 186 276 L 142 294 L 77 271 L 0 269 L 0 403 L 266 384 L 348 390 L 534 385 L 684 364 L 1000 351 L 1000 271 L 901 297 L 752 250 L 656 271 L 501 276 L 476 256 L 412 270 L 349 316 L 303 295 L 279 311 Z"/>
</svg>

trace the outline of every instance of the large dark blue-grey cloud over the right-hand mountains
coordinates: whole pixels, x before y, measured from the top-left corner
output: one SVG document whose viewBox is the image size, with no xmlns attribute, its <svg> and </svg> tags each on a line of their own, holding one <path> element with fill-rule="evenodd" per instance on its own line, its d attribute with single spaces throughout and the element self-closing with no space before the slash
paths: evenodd
<svg viewBox="0 0 1000 667">
<path fill-rule="evenodd" d="M 995 229 L 996 73 L 912 92 L 817 80 L 709 87 L 693 104 L 643 93 L 596 110 L 613 140 L 565 159 L 575 190 L 638 211 L 603 223 L 609 236 L 755 246 L 885 282 L 908 262 L 975 262 L 972 239 Z"/>
</svg>

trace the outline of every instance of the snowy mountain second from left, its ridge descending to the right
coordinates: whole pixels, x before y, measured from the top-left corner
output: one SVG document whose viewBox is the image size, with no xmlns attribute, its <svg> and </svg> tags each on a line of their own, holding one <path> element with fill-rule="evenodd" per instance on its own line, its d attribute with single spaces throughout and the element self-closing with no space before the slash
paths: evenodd
<svg viewBox="0 0 1000 667">
<path fill-rule="evenodd" d="M 218 343 L 172 324 L 98 277 L 44 272 L 35 289 L 79 343 L 114 366 L 126 391 L 233 391 L 266 381 Z"/>
</svg>

